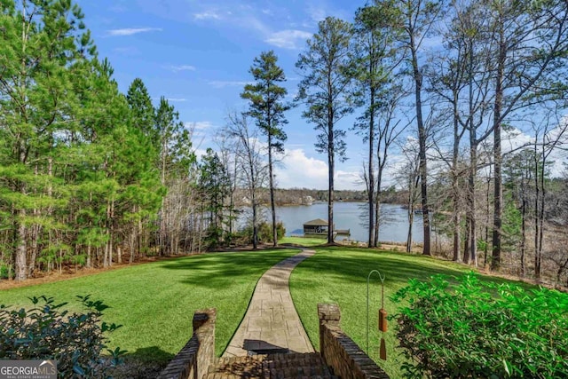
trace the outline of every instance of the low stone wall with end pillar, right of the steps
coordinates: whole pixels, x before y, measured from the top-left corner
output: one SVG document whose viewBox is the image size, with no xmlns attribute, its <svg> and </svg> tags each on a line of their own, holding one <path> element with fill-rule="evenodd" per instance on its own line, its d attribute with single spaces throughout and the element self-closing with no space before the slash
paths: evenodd
<svg viewBox="0 0 568 379">
<path fill-rule="evenodd" d="M 389 379 L 389 375 L 343 332 L 337 304 L 318 304 L 318 316 L 319 353 L 335 375 L 342 379 Z"/>
</svg>

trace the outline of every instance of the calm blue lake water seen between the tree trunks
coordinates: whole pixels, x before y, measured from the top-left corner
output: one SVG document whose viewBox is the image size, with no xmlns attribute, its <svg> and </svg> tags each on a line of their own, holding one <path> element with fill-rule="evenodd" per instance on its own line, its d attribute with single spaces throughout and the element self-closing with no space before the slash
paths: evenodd
<svg viewBox="0 0 568 379">
<path fill-rule="evenodd" d="M 368 229 L 365 222 L 367 215 L 367 203 L 351 201 L 334 203 L 335 229 L 351 229 L 351 240 L 368 241 Z M 327 220 L 327 203 L 277 207 L 276 217 L 284 224 L 286 235 L 303 234 L 306 221 L 315 218 Z M 406 209 L 400 205 L 381 204 L 381 218 L 380 241 L 406 242 L 408 233 Z M 422 240 L 422 217 L 416 215 L 413 225 L 413 241 L 422 242 Z"/>
</svg>

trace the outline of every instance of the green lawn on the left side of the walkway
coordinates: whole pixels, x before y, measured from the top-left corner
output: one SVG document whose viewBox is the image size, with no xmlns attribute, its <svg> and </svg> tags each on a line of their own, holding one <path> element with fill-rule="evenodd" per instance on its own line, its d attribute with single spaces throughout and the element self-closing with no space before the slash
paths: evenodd
<svg viewBox="0 0 568 379">
<path fill-rule="evenodd" d="M 216 253 L 163 260 L 72 280 L 0 291 L 0 304 L 31 307 L 28 296 L 53 296 L 57 302 L 91 294 L 112 308 L 107 322 L 123 327 L 111 335 L 133 358 L 166 362 L 192 334 L 193 311 L 217 308 L 220 355 L 241 323 L 256 281 L 296 249 Z"/>
</svg>

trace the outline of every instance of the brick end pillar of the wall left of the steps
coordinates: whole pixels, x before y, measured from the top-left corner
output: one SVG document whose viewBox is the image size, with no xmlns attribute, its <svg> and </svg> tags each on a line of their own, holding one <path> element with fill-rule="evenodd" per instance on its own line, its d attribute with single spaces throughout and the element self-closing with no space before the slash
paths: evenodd
<svg viewBox="0 0 568 379">
<path fill-rule="evenodd" d="M 215 308 L 195 311 L 193 314 L 193 335 L 197 336 L 199 341 L 193 379 L 202 379 L 215 359 L 216 319 L 217 310 Z"/>
</svg>

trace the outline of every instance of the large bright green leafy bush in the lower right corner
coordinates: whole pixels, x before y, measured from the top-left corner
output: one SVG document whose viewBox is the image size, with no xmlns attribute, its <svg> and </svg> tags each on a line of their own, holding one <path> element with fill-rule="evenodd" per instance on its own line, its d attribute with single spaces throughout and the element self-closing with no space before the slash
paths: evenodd
<svg viewBox="0 0 568 379">
<path fill-rule="evenodd" d="M 406 377 L 568 377 L 568 295 L 480 281 L 411 280 L 392 298 Z"/>
</svg>

